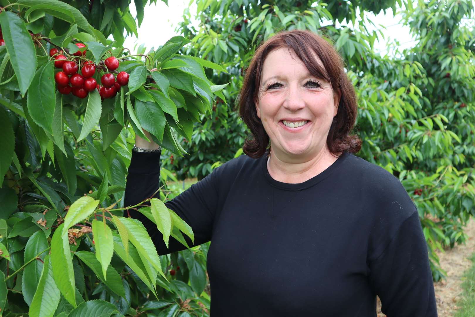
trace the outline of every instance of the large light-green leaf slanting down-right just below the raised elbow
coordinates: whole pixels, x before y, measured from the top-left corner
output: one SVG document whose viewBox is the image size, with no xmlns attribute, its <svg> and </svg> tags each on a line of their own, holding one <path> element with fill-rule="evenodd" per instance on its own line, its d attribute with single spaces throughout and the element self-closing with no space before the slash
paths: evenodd
<svg viewBox="0 0 475 317">
<path fill-rule="evenodd" d="M 135 246 L 137 251 L 142 254 L 142 256 L 152 264 L 153 268 L 159 271 L 165 278 L 161 271 L 160 258 L 158 257 L 157 250 L 155 249 L 152 239 L 147 233 L 147 230 L 145 230 L 142 222 L 133 218 L 118 218 L 125 225 L 125 228 L 129 233 L 129 240 L 132 242 L 133 246 Z"/>
</svg>

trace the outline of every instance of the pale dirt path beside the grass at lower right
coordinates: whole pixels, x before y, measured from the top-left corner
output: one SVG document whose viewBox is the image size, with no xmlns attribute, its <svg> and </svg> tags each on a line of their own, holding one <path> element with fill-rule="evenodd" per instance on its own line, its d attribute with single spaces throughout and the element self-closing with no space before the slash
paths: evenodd
<svg viewBox="0 0 475 317">
<path fill-rule="evenodd" d="M 475 252 L 475 220 L 468 223 L 465 233 L 468 236 L 465 245 L 458 245 L 444 253 L 437 251 L 442 269 L 447 271 L 446 279 L 434 283 L 436 289 L 437 312 L 440 317 L 451 317 L 457 310 L 456 302 L 462 293 L 462 276 L 472 266 L 470 257 Z M 381 303 L 378 298 L 378 317 L 381 313 Z"/>
</svg>

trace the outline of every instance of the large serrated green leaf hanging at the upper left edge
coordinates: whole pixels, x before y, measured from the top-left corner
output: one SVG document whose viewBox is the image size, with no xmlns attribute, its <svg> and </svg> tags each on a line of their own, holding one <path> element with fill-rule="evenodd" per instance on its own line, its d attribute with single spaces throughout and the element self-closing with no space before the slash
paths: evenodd
<svg viewBox="0 0 475 317">
<path fill-rule="evenodd" d="M 10 55 L 11 66 L 17 75 L 21 96 L 25 96 L 35 76 L 32 70 L 36 70 L 37 65 L 33 40 L 23 20 L 12 11 L 3 10 L 0 14 L 0 25 L 5 46 Z"/>
</svg>

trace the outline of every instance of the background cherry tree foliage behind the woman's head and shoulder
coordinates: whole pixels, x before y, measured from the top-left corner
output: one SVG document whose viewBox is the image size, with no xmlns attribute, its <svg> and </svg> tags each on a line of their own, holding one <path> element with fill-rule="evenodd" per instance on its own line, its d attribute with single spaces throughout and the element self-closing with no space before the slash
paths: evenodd
<svg viewBox="0 0 475 317">
<path fill-rule="evenodd" d="M 201 178 L 209 164 L 232 158 L 245 132 L 231 105 L 257 45 L 279 30 L 310 29 L 342 54 L 359 99 L 355 132 L 363 145 L 358 155 L 393 173 L 409 192 L 438 280 L 443 270 L 434 250 L 464 243 L 463 227 L 475 215 L 475 29 L 467 23 L 473 3 L 325 2 L 198 0 L 196 27 L 185 12 L 179 30 L 192 42 L 186 53 L 226 67 L 228 74 L 210 77 L 217 84 L 229 82 L 223 92 L 228 106 L 217 102 L 212 118 L 195 124 L 193 139 L 183 145 L 192 155 L 167 168 L 180 177 Z M 370 31 L 373 23 L 365 13 L 398 7 L 417 44 L 380 56 L 374 43 L 383 31 L 380 26 Z M 190 169 L 198 164 L 201 169 Z"/>
</svg>

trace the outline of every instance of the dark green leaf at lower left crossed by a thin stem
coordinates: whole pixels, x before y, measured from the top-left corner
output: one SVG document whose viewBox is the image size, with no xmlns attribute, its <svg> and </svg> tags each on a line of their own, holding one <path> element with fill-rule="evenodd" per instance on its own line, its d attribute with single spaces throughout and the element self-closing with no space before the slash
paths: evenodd
<svg viewBox="0 0 475 317">
<path fill-rule="evenodd" d="M 48 248 L 48 241 L 46 240 L 45 235 L 42 231 L 37 231 L 28 239 L 27 245 L 25 247 L 24 263 L 27 263 L 29 260 L 34 259 L 38 253 Z M 45 259 L 47 252 L 42 253 L 39 258 L 41 260 Z M 23 276 L 28 277 L 27 279 L 22 279 L 21 292 L 23 298 L 28 306 L 31 306 L 31 302 L 35 295 L 36 289 L 39 284 L 41 272 L 43 271 L 43 262 L 39 259 L 30 262 L 25 269 L 23 269 Z"/>
</svg>

